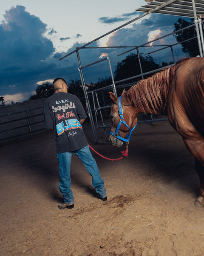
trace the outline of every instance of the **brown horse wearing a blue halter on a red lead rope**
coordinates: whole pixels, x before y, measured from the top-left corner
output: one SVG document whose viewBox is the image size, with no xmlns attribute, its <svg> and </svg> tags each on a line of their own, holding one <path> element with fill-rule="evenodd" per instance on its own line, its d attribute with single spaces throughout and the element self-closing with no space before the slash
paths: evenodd
<svg viewBox="0 0 204 256">
<path fill-rule="evenodd" d="M 122 116 L 119 115 L 120 99 L 111 92 L 109 94 L 113 100 L 110 133 L 114 136 L 109 137 L 113 145 L 123 144 L 120 139 L 125 138 L 136 125 L 139 113 L 168 116 L 170 124 L 195 157 L 195 169 L 201 185 L 195 205 L 204 206 L 204 58 L 183 58 L 173 67 L 139 81 L 127 92 L 124 89 L 121 95 Z"/>
</svg>

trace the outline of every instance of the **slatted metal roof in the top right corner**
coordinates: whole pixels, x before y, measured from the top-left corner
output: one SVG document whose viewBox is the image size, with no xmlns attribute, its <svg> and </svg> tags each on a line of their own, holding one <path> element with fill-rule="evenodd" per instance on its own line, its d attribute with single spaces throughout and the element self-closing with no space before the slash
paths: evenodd
<svg viewBox="0 0 204 256">
<path fill-rule="evenodd" d="M 145 0 L 146 2 L 150 2 L 145 6 L 141 6 L 136 11 L 138 12 L 156 12 L 167 15 L 176 15 L 183 17 L 191 17 L 194 18 L 193 14 L 193 3 L 195 2 L 195 9 L 197 17 L 199 15 L 204 15 L 204 0 Z M 170 2 L 168 4 L 168 2 Z M 173 3 L 172 3 L 173 2 Z M 160 6 L 165 4 L 164 7 L 160 9 Z M 158 8 L 158 9 L 156 9 Z M 156 9 L 156 10 L 154 10 Z"/>
</svg>

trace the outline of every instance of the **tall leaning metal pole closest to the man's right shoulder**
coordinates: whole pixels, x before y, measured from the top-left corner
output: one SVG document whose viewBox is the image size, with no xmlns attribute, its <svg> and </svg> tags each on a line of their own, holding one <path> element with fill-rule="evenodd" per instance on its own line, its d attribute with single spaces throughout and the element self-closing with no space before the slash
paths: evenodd
<svg viewBox="0 0 204 256">
<path fill-rule="evenodd" d="M 87 108 L 88 108 L 88 115 L 89 115 L 89 118 L 90 118 L 95 143 L 97 143 L 98 139 L 97 139 L 97 135 L 96 135 L 96 129 L 94 127 L 94 119 L 93 119 L 93 116 L 92 116 L 92 113 L 91 113 L 91 106 L 90 106 L 90 103 L 89 103 L 89 100 L 88 100 L 88 94 L 87 94 L 87 91 L 86 91 L 85 80 L 84 80 L 83 72 L 82 72 L 82 69 L 81 69 L 82 65 L 81 65 L 81 61 L 80 61 L 80 57 L 79 57 L 79 52 L 78 52 L 78 50 L 76 52 L 77 52 L 77 58 L 78 58 L 79 67 L 80 67 L 79 68 L 79 75 L 80 75 L 80 78 L 81 78 L 81 81 L 82 81 L 82 89 L 83 89 L 84 96 L 85 96 L 85 99 L 86 99 L 86 104 L 87 104 Z"/>
</svg>

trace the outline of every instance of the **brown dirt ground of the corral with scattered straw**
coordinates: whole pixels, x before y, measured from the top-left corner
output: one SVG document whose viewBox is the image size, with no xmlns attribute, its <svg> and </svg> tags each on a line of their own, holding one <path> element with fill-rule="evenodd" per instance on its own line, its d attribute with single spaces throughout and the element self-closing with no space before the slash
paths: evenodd
<svg viewBox="0 0 204 256">
<path fill-rule="evenodd" d="M 106 157 L 121 151 L 89 144 Z M 2 256 L 204 256 L 204 207 L 193 156 L 167 121 L 137 125 L 129 156 L 108 161 L 93 152 L 108 194 L 96 197 L 73 154 L 73 209 L 58 209 L 58 163 L 52 131 L 0 147 L 0 255 Z"/>
</svg>

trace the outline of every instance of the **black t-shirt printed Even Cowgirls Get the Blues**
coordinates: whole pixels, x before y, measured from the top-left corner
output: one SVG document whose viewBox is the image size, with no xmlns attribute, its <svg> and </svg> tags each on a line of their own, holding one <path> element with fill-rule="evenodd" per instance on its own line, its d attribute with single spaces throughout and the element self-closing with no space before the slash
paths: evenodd
<svg viewBox="0 0 204 256">
<path fill-rule="evenodd" d="M 88 145 L 80 119 L 86 113 L 77 96 L 54 93 L 45 101 L 45 126 L 54 128 L 57 153 L 72 152 Z"/>
</svg>

